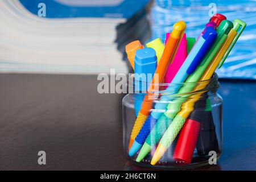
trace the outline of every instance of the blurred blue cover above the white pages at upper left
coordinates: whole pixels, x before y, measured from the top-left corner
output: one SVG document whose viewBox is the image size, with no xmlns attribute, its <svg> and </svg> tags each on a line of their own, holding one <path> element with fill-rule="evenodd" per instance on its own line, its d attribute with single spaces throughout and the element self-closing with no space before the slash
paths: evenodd
<svg viewBox="0 0 256 182">
<path fill-rule="evenodd" d="M 39 3 L 46 4 L 46 18 L 125 18 L 142 10 L 150 0 L 19 0 L 38 15 Z"/>
</svg>

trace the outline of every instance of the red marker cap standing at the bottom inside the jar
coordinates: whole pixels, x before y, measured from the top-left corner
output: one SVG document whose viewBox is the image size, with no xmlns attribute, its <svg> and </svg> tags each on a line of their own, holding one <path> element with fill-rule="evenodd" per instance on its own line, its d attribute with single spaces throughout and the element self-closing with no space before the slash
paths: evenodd
<svg viewBox="0 0 256 182">
<path fill-rule="evenodd" d="M 187 119 L 177 140 L 173 156 L 174 160 L 185 164 L 191 163 L 199 131 L 200 123 L 192 119 Z"/>
</svg>

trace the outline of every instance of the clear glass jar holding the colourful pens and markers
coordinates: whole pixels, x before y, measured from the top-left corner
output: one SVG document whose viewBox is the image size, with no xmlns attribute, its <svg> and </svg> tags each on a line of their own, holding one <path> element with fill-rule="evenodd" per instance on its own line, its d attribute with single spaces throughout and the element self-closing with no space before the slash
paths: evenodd
<svg viewBox="0 0 256 182">
<path fill-rule="evenodd" d="M 216 164 L 222 152 L 217 74 L 206 81 L 154 84 L 152 92 L 143 92 L 147 86 L 129 76 L 129 93 L 122 100 L 127 159 L 151 168 Z"/>
</svg>

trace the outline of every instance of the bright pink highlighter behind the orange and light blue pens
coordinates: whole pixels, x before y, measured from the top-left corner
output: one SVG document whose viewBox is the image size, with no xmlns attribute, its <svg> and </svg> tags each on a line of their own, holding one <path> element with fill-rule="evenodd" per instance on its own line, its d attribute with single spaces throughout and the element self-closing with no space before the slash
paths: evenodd
<svg viewBox="0 0 256 182">
<path fill-rule="evenodd" d="M 170 33 L 166 34 L 166 40 L 164 43 L 167 42 Z M 164 77 L 164 82 L 170 83 L 172 79 L 175 77 L 176 73 L 179 71 L 181 65 L 184 63 L 187 57 L 187 40 L 186 34 L 183 35 L 180 46 L 177 49 L 176 55 L 174 57 L 174 61 L 168 65 L 166 76 Z"/>
</svg>

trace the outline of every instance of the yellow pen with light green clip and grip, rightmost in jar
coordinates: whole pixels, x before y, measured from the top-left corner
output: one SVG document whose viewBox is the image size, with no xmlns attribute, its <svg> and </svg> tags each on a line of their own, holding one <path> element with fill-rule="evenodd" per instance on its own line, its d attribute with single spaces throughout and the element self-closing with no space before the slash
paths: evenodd
<svg viewBox="0 0 256 182">
<path fill-rule="evenodd" d="M 199 81 L 207 81 L 212 77 L 218 64 L 222 64 L 225 61 L 226 57 L 233 48 L 234 44 L 237 42 L 237 39 L 242 34 L 242 31 L 245 29 L 245 27 L 245 22 L 242 22 L 239 19 L 234 20 L 234 28 L 229 31 L 228 37 L 225 39 L 221 48 L 218 49 L 216 56 L 214 56 L 213 60 L 210 61 L 210 63 L 208 64 L 206 71 L 204 72 L 203 76 L 201 76 Z M 240 30 L 240 32 L 237 34 L 238 30 Z M 205 86 L 205 84 L 199 84 L 196 85 L 193 90 L 202 90 L 205 88 Z M 199 100 L 201 94 L 202 93 L 194 94 L 190 97 L 189 100 L 185 101 L 181 105 L 182 109 L 179 111 L 179 113 L 177 113 L 174 120 L 166 130 L 166 133 L 164 133 L 162 139 L 160 140 L 158 148 L 156 148 L 155 154 L 151 160 L 152 165 L 155 165 L 156 162 L 158 162 L 158 160 L 163 156 L 164 152 L 167 151 L 167 148 L 170 147 L 172 141 L 176 138 L 176 135 L 179 133 L 181 127 L 184 125 L 185 120 L 193 110 L 193 106 L 195 105 L 195 102 Z"/>
</svg>

